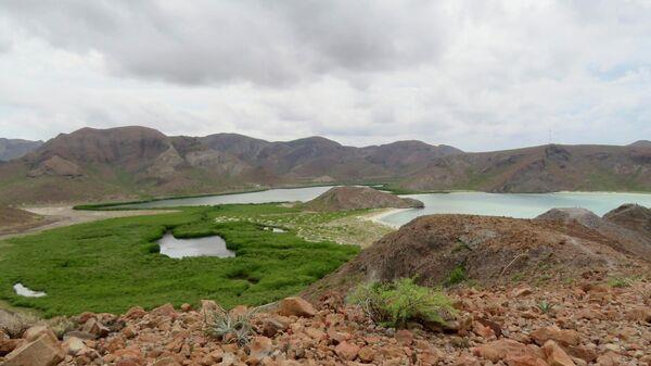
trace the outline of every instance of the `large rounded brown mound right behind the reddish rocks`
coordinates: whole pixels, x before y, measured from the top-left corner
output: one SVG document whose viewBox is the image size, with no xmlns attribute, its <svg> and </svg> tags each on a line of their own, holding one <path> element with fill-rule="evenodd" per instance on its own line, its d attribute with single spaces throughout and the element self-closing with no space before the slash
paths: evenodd
<svg viewBox="0 0 651 366">
<path fill-rule="evenodd" d="M 380 239 L 308 293 L 401 277 L 417 278 L 426 286 L 464 278 L 489 285 L 513 277 L 561 280 L 586 272 L 639 268 L 649 270 L 649 264 L 576 222 L 431 215 Z"/>
</svg>

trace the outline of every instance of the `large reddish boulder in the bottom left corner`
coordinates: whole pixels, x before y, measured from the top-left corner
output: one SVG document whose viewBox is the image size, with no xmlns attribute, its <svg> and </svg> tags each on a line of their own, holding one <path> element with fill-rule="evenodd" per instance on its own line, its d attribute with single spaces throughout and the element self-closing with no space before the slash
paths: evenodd
<svg viewBox="0 0 651 366">
<path fill-rule="evenodd" d="M 54 366 L 64 357 L 65 353 L 56 338 L 43 333 L 7 355 L 2 366 Z"/>
</svg>

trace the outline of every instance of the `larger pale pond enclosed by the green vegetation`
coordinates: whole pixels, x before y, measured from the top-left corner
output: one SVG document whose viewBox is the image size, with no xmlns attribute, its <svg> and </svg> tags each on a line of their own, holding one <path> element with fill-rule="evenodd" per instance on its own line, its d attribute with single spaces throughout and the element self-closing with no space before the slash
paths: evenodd
<svg viewBox="0 0 651 366">
<path fill-rule="evenodd" d="M 168 232 L 157 242 L 161 247 L 161 254 L 173 258 L 188 256 L 218 256 L 226 258 L 235 256 L 235 252 L 227 249 L 226 241 L 218 236 L 177 239 Z"/>
</svg>

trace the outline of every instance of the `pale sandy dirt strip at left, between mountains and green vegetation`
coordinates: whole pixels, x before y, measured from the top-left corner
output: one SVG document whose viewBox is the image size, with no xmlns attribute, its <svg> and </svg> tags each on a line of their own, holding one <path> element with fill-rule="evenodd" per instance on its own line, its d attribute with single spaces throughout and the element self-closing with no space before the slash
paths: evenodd
<svg viewBox="0 0 651 366">
<path fill-rule="evenodd" d="M 0 240 L 22 237 L 58 227 L 64 227 L 81 223 L 97 222 L 105 218 L 129 217 L 143 215 L 158 215 L 171 213 L 170 210 L 130 210 L 130 211 L 86 211 L 73 210 L 73 206 L 38 206 L 22 207 L 30 213 L 43 216 L 43 225 L 30 227 L 20 232 L 0 235 Z"/>
</svg>

